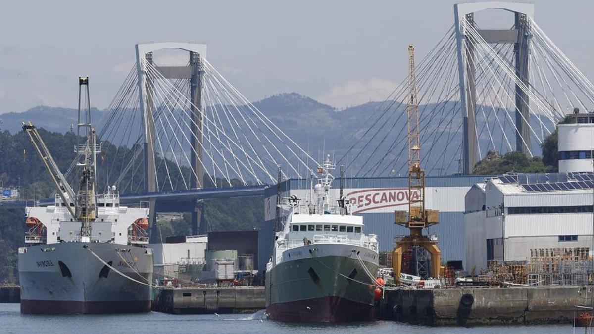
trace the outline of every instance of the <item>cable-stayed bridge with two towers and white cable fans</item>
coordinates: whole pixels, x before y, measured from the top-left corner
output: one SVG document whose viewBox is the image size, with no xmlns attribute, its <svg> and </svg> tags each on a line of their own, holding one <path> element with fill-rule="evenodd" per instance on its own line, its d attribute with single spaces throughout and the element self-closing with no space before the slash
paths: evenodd
<svg viewBox="0 0 594 334">
<path fill-rule="evenodd" d="M 594 109 L 594 86 L 538 26 L 533 9 L 522 2 L 455 5 L 454 24 L 417 63 L 429 175 L 470 174 L 488 151 L 539 155 L 565 114 Z M 475 17 L 485 10 L 508 12 L 509 21 L 486 29 Z M 184 52 L 185 64 L 161 64 L 158 54 L 167 49 Z M 405 45 L 402 55 L 404 68 Z M 115 184 L 122 201 L 147 200 L 153 215 L 191 211 L 198 233 L 201 200 L 261 195 L 279 178 L 307 178 L 317 168 L 310 152 L 217 71 L 206 45 L 138 44 L 136 56 L 95 122 L 104 143 L 99 181 Z M 369 109 L 358 131 L 326 144 L 348 175 L 406 175 L 406 85 Z"/>
</svg>

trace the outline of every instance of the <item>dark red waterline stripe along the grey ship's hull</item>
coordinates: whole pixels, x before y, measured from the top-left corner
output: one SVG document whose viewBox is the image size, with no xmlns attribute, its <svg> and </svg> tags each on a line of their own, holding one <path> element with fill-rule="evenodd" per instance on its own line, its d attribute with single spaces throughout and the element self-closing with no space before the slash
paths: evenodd
<svg viewBox="0 0 594 334">
<path fill-rule="evenodd" d="M 150 312 L 151 301 L 48 301 L 21 300 L 24 314 L 91 314 Z"/>
</svg>

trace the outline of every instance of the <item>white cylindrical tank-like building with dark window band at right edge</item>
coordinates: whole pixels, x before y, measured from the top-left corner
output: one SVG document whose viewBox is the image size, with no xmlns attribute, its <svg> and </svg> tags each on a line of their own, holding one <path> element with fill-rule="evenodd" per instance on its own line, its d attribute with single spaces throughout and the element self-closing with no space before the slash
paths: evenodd
<svg viewBox="0 0 594 334">
<path fill-rule="evenodd" d="M 560 124 L 558 126 L 560 172 L 592 172 L 594 123 Z"/>
</svg>

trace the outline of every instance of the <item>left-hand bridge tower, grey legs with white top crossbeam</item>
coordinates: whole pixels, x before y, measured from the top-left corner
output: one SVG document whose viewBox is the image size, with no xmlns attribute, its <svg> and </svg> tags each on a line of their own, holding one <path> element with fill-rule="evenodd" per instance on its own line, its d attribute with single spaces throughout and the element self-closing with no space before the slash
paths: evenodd
<svg viewBox="0 0 594 334">
<path fill-rule="evenodd" d="M 138 99 L 140 101 L 140 112 L 143 117 L 144 125 L 144 191 L 153 193 L 158 191 L 157 185 L 157 171 L 154 159 L 154 83 L 153 78 L 146 73 L 146 65 L 144 61 L 153 64 L 153 52 L 163 49 L 180 49 L 189 53 L 188 66 L 163 66 L 156 67 L 160 75 L 166 79 L 188 79 L 189 80 L 189 99 L 191 101 L 191 124 L 190 131 L 192 132 L 190 150 L 190 163 L 195 171 L 190 173 L 189 184 L 191 188 L 204 187 L 204 169 L 200 163 L 203 153 L 203 114 L 202 114 L 202 89 L 203 89 L 203 61 L 206 57 L 206 44 L 197 43 L 178 43 L 178 42 L 163 42 L 163 43 L 139 43 L 136 45 L 136 66 L 138 75 Z M 143 61 L 144 60 L 144 61 Z M 151 226 L 151 240 L 157 239 L 156 218 L 157 205 L 156 200 L 150 201 L 150 226 Z M 204 203 L 196 201 L 192 208 L 192 234 L 198 234 L 198 226 L 201 232 L 206 232 L 204 226 Z"/>
</svg>

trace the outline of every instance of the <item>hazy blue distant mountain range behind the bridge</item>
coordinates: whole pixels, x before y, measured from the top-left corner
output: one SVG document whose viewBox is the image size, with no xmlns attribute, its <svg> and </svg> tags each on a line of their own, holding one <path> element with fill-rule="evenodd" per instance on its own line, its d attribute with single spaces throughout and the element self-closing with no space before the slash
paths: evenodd
<svg viewBox="0 0 594 334">
<path fill-rule="evenodd" d="M 255 102 L 254 105 L 263 112 L 283 132 L 298 143 L 314 159 L 321 159 L 321 154 L 333 154 L 335 159 L 345 156 L 340 163 L 349 165 L 355 157 L 358 162 L 356 166 L 347 171 L 347 174 L 364 175 L 366 172 L 386 175 L 390 171 L 393 174 L 402 173 L 403 163 L 406 162 L 406 106 L 397 102 L 368 102 L 362 105 L 337 110 L 333 106 L 317 102 L 310 97 L 298 93 L 277 94 L 266 99 Z M 477 106 L 480 108 L 480 106 Z M 425 110 L 434 110 L 429 115 Z M 489 107 L 485 107 L 485 112 Z M 421 105 L 421 123 L 426 124 L 428 117 L 429 125 L 424 131 L 421 129 L 422 138 L 427 138 L 426 144 L 422 147 L 422 157 L 426 166 L 434 166 L 435 173 L 451 173 L 457 171 L 457 159 L 461 156 L 460 147 L 462 141 L 461 120 L 458 115 L 459 106 L 457 103 L 445 103 L 442 105 Z M 504 115 L 503 110 L 500 111 Z M 95 125 L 105 115 L 105 111 L 93 109 L 92 116 Z M 132 117 L 129 114 L 128 117 Z M 453 118 L 453 122 L 450 119 Z M 500 118 L 498 122 L 503 123 L 506 128 L 509 119 L 514 118 L 513 112 L 507 118 Z M 23 113 L 2 114 L 0 118 L 4 121 L 2 129 L 11 133 L 20 131 L 22 121 L 33 121 L 39 127 L 49 131 L 65 133 L 69 131 L 70 124 L 77 123 L 77 111 L 68 108 L 51 108 L 38 106 Z M 124 122 L 124 121 L 121 121 Z M 507 152 L 507 147 L 515 147 L 515 134 L 508 130 L 506 135 L 501 133 L 500 125 L 491 116 L 489 124 L 492 136 L 489 137 L 486 130 L 482 131 L 479 137 L 481 152 L 486 147 L 492 150 L 491 140 L 495 144 L 495 150 Z M 536 116 L 530 119 L 533 129 L 540 133 L 540 125 Z M 373 125 L 371 130 L 369 128 Z M 478 125 L 481 131 L 485 124 Z M 549 125 L 549 128 L 554 128 Z M 138 137 L 138 129 L 128 128 L 122 136 Z M 122 138 L 113 137 L 115 144 Z M 132 139 L 134 139 L 132 138 Z M 509 144 L 508 144 L 509 141 Z M 532 152 L 534 155 L 541 155 L 538 141 L 533 137 Z M 354 147 L 353 147 L 354 146 Z M 353 149 L 349 152 L 349 149 Z M 376 148 L 379 147 L 377 150 Z M 425 163 L 425 162 L 424 162 Z M 429 168 L 429 167 L 428 167 Z M 360 172 L 359 172 L 360 170 Z"/>
</svg>

